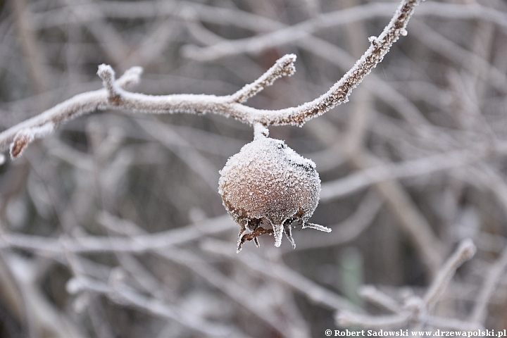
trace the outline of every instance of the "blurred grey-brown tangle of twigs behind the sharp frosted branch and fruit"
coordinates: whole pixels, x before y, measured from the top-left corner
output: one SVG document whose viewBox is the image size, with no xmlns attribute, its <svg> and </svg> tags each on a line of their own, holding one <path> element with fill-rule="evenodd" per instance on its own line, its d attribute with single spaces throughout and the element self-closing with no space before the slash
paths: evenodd
<svg viewBox="0 0 507 338">
<path fill-rule="evenodd" d="M 227 95 L 294 53 L 296 74 L 248 104 L 297 106 L 397 5 L 0 1 L 0 127 L 101 88 L 101 63 L 142 66 L 145 94 Z M 348 104 L 270 127 L 317 164 L 311 221 L 333 228 L 295 231 L 295 250 L 263 236 L 235 253 L 218 170 L 251 127 L 122 111 L 63 125 L 0 167 L 0 336 L 324 337 L 339 308 L 386 313 L 358 288 L 420 294 L 465 238 L 477 255 L 434 313 L 470 320 L 493 271 L 484 327 L 507 327 L 506 56 L 505 1 L 427 0 Z"/>
</svg>

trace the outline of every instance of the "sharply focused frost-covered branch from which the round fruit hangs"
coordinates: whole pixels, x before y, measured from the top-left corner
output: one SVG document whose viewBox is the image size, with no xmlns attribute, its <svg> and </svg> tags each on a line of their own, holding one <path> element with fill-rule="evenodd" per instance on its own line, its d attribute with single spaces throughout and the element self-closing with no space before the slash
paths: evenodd
<svg viewBox="0 0 507 338">
<path fill-rule="evenodd" d="M 175 94 L 152 96 L 127 92 L 125 87 L 139 80 L 142 70 L 139 67 L 127 70 L 120 79 L 115 80 L 113 68 L 99 65 L 97 74 L 104 83 L 104 89 L 74 96 L 40 115 L 25 120 L 0 134 L 0 151 L 10 144 L 11 157 L 20 156 L 28 144 L 45 137 L 60 124 L 93 111 L 127 110 L 139 113 L 214 113 L 236 118 L 243 123 L 255 125 L 298 125 L 330 111 L 349 99 L 357 87 L 375 66 L 382 61 L 400 35 L 406 35 L 406 25 L 414 8 L 421 0 L 402 0 L 392 20 L 379 37 L 370 37 L 370 47 L 341 80 L 317 99 L 301 106 L 277 111 L 261 110 L 244 106 L 242 102 L 258 94 L 282 76 L 294 73 L 296 56 L 289 54 L 280 58 L 272 68 L 251 84 L 247 84 L 230 96 Z"/>
</svg>

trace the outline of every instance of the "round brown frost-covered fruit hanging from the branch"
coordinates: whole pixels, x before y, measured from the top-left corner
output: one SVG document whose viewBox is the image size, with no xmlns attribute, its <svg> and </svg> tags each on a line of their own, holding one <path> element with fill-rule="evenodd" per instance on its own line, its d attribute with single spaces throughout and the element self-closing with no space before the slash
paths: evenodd
<svg viewBox="0 0 507 338">
<path fill-rule="evenodd" d="M 232 219 L 241 227 L 237 250 L 246 240 L 255 242 L 265 233 L 275 235 L 275 246 L 284 232 L 292 247 L 292 223 L 330 232 L 308 223 L 317 208 L 320 178 L 315 163 L 303 158 L 278 139 L 259 134 L 231 156 L 220 170 L 218 192 Z M 263 227 L 262 225 L 270 225 Z"/>
</svg>

